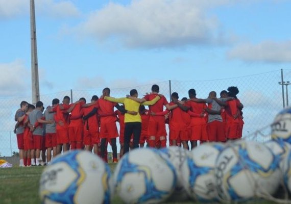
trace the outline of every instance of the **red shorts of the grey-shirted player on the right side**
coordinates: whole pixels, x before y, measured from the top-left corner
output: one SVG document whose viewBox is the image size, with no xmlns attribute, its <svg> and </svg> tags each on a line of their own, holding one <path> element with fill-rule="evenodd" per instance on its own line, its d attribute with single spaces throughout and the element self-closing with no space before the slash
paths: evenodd
<svg viewBox="0 0 291 204">
<path fill-rule="evenodd" d="M 208 140 L 210 142 L 225 142 L 226 135 L 223 122 L 218 120 L 213 120 L 208 123 Z"/>
</svg>

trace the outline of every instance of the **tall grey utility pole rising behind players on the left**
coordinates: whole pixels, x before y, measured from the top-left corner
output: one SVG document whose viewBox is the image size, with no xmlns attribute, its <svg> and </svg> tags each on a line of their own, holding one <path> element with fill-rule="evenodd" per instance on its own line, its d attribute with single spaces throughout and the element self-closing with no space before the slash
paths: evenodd
<svg viewBox="0 0 291 204">
<path fill-rule="evenodd" d="M 31 85 L 32 85 L 32 104 L 39 101 L 39 82 L 38 82 L 38 62 L 36 46 L 36 26 L 34 0 L 30 0 L 30 36 L 31 36 Z"/>
</svg>

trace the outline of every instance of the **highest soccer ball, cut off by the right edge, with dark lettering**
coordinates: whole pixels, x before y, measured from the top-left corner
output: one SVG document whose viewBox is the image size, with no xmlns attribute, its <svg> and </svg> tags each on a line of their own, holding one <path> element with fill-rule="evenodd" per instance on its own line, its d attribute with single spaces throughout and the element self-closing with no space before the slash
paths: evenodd
<svg viewBox="0 0 291 204">
<path fill-rule="evenodd" d="M 281 138 L 291 143 L 291 108 L 285 108 L 277 114 L 271 125 L 272 139 Z"/>
</svg>

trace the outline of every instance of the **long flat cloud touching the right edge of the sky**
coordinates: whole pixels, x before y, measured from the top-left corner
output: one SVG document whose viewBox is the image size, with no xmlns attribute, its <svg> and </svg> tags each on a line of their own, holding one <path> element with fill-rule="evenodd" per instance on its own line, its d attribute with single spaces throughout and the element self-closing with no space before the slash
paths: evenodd
<svg viewBox="0 0 291 204">
<path fill-rule="evenodd" d="M 239 59 L 247 62 L 289 63 L 291 62 L 291 40 L 240 44 L 230 50 L 227 55 L 229 59 Z"/>
</svg>

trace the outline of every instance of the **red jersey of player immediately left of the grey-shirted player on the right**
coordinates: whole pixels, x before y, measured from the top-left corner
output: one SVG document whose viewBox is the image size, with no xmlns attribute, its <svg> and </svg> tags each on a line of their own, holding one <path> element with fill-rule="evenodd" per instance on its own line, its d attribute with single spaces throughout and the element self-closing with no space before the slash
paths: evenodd
<svg viewBox="0 0 291 204">
<path fill-rule="evenodd" d="M 195 101 L 189 100 L 185 103 L 185 106 L 190 108 L 188 113 L 191 116 L 191 125 L 200 125 L 207 123 L 207 114 L 205 109 L 207 105 L 204 103 L 196 103 Z M 201 117 L 201 114 L 205 114 L 205 117 Z"/>
</svg>

